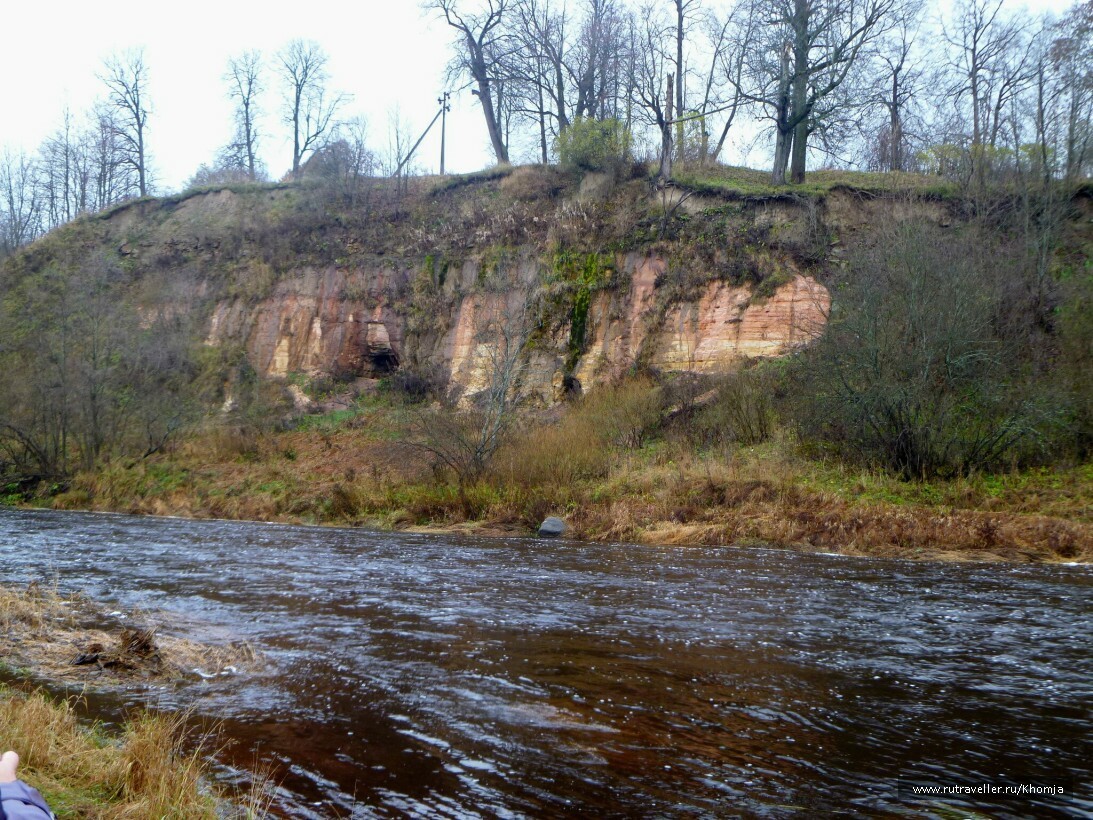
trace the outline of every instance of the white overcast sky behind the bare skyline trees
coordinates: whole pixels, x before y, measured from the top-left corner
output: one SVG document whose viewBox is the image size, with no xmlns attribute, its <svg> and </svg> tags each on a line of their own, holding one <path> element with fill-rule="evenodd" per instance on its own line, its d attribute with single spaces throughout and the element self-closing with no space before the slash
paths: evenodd
<svg viewBox="0 0 1093 820">
<path fill-rule="evenodd" d="M 1029 8 L 1061 11 L 1070 4 L 1034 0 Z M 228 57 L 259 49 L 271 66 L 274 52 L 294 37 L 317 40 L 330 55 L 330 86 L 353 96 L 345 114 L 364 115 L 371 143 L 383 151 L 392 108 L 398 106 L 415 138 L 436 113 L 451 39 L 443 21 L 423 15 L 416 0 L 11 0 L 7 5 L 0 148 L 35 150 L 57 128 L 66 105 L 81 115 L 103 95 L 96 74 L 104 57 L 143 47 L 152 108 L 148 140 L 161 190 L 181 187 L 230 140 L 232 106 L 223 82 Z M 261 155 L 280 176 L 291 165 L 291 140 L 277 116 L 280 89 L 271 71 L 266 84 Z M 419 162 L 425 171 L 438 166 L 438 129 Z M 491 162 L 475 98 L 467 91 L 456 94 L 448 169 L 474 171 Z"/>
</svg>

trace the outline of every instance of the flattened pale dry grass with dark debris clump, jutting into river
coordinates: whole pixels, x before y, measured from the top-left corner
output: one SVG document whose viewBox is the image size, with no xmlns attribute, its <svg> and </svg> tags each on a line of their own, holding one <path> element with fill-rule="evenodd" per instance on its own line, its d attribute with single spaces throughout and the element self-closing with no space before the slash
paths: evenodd
<svg viewBox="0 0 1093 820">
<path fill-rule="evenodd" d="M 126 625 L 150 619 L 130 614 L 118 622 L 84 596 L 66 597 L 37 583 L 0 585 L 0 657 L 33 677 L 95 688 L 239 673 L 262 663 L 245 642 L 214 646 L 158 634 L 154 623 Z"/>
</svg>

